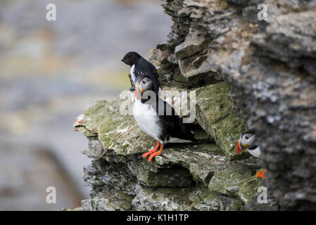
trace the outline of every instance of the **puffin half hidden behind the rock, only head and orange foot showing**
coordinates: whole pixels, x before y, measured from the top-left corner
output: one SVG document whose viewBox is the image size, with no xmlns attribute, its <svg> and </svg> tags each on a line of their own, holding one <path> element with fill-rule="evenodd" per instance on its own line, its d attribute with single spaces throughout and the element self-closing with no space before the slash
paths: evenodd
<svg viewBox="0 0 316 225">
<path fill-rule="evenodd" d="M 257 136 L 251 129 L 243 131 L 239 136 L 239 141 L 236 146 L 236 152 L 238 154 L 248 150 L 248 153 L 253 155 L 255 158 L 260 158 L 261 150 L 257 143 Z M 265 172 L 267 169 L 263 169 L 255 174 L 255 177 L 265 178 Z"/>
</svg>

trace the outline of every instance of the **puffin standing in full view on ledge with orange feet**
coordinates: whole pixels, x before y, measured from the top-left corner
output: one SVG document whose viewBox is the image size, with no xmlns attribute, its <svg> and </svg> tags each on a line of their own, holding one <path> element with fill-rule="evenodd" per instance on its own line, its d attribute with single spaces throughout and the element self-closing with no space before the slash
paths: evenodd
<svg viewBox="0 0 316 225">
<path fill-rule="evenodd" d="M 140 129 L 157 141 L 155 148 L 142 155 L 143 158 L 149 155 L 148 162 L 160 155 L 167 143 L 196 142 L 194 134 L 175 113 L 175 109 L 159 98 L 153 87 L 152 79 L 145 75 L 136 77 L 133 115 Z"/>
</svg>

